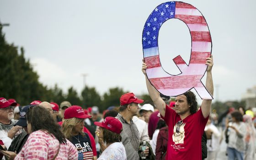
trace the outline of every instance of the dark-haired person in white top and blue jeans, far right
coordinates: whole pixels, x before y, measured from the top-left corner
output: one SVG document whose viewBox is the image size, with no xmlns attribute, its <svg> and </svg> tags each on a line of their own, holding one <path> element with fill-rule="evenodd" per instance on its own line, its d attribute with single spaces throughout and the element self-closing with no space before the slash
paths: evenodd
<svg viewBox="0 0 256 160">
<path fill-rule="evenodd" d="M 245 152 L 246 126 L 243 123 L 243 116 L 239 111 L 231 113 L 232 122 L 228 124 L 226 132 L 229 134 L 228 160 L 243 160 Z"/>
</svg>

